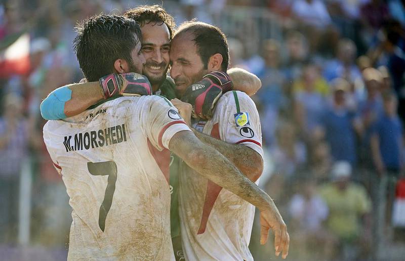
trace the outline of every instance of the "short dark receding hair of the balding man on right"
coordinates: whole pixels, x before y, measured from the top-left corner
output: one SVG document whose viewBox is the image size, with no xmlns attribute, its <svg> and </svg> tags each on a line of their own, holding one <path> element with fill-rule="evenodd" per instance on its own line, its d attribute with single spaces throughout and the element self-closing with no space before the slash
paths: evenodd
<svg viewBox="0 0 405 261">
<path fill-rule="evenodd" d="M 193 42 L 197 47 L 198 55 L 208 68 L 208 60 L 214 54 L 222 55 L 222 71 L 226 72 L 229 65 L 229 49 L 225 34 L 218 27 L 196 21 L 187 21 L 179 26 L 176 35 L 191 32 L 194 36 Z"/>
</svg>

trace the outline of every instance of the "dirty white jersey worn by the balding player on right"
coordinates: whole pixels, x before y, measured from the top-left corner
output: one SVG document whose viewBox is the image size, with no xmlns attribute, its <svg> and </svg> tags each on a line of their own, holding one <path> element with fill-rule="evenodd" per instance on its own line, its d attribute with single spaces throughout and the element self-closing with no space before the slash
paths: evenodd
<svg viewBox="0 0 405 261">
<path fill-rule="evenodd" d="M 218 101 L 213 118 L 194 127 L 263 157 L 259 114 L 252 99 L 233 91 Z M 249 250 L 255 207 L 194 172 L 180 173 L 180 226 L 186 260 L 253 260 Z"/>
</svg>

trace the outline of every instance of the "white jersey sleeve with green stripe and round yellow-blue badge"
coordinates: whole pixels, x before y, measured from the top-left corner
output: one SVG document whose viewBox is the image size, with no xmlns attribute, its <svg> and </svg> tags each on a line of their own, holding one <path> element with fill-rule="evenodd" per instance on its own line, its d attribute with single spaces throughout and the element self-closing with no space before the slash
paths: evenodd
<svg viewBox="0 0 405 261">
<path fill-rule="evenodd" d="M 262 131 L 255 103 L 247 94 L 238 91 L 228 92 L 224 98 L 226 105 L 220 107 L 218 119 L 221 140 L 248 146 L 263 157 Z"/>
</svg>

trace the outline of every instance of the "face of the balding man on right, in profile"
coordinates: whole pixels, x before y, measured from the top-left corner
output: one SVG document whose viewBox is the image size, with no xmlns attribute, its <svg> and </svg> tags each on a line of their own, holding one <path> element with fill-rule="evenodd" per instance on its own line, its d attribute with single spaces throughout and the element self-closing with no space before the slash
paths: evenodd
<svg viewBox="0 0 405 261">
<path fill-rule="evenodd" d="M 170 61 L 172 63 L 170 76 L 176 83 L 176 91 L 180 97 L 188 86 L 201 80 L 209 72 L 204 68 L 203 61 L 197 53 L 192 33 L 181 33 L 173 38 Z"/>
</svg>

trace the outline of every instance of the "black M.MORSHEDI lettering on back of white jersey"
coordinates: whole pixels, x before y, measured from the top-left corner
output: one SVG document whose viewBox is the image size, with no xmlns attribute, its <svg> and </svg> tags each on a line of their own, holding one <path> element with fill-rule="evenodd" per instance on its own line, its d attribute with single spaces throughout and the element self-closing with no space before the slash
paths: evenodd
<svg viewBox="0 0 405 261">
<path fill-rule="evenodd" d="M 125 124 L 122 124 L 97 131 L 92 130 L 87 133 L 77 133 L 74 136 L 65 136 L 63 145 L 65 145 L 66 152 L 69 152 L 94 149 L 126 141 Z"/>
</svg>

